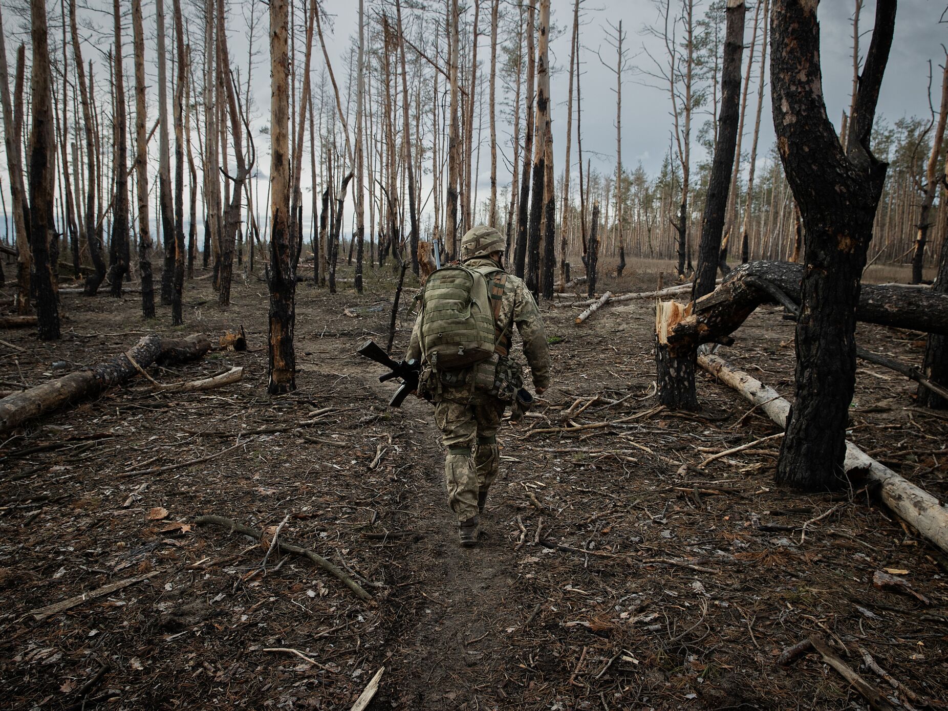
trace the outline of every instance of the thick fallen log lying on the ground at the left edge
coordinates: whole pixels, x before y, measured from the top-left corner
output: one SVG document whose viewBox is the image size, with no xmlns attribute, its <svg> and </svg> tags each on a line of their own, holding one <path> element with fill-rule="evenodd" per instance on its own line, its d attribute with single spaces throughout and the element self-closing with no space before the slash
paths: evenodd
<svg viewBox="0 0 948 711">
<path fill-rule="evenodd" d="M 93 397 L 137 375 L 152 363 L 192 360 L 208 351 L 210 340 L 204 334 L 178 340 L 155 335 L 143 337 L 127 352 L 90 369 L 75 371 L 3 398 L 0 400 L 0 432 L 19 427 L 67 403 Z"/>
</svg>

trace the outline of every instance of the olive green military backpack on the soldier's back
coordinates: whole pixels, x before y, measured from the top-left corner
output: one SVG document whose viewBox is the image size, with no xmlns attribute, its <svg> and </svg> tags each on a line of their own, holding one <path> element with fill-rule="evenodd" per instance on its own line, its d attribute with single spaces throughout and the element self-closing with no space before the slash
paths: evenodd
<svg viewBox="0 0 948 711">
<path fill-rule="evenodd" d="M 432 366 L 455 370 L 494 355 L 494 307 L 487 285 L 494 271 L 448 264 L 428 276 L 419 341 Z"/>
</svg>

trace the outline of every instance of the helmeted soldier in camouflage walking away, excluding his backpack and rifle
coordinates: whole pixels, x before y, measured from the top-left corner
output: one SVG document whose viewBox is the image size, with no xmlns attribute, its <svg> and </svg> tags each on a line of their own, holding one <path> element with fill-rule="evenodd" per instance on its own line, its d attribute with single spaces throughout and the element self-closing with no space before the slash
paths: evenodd
<svg viewBox="0 0 948 711">
<path fill-rule="evenodd" d="M 457 515 L 465 547 L 477 542 L 479 514 L 499 472 L 497 429 L 503 410 L 508 402 L 516 409 L 516 393 L 523 384 L 520 364 L 508 355 L 514 324 L 535 390 L 542 394 L 550 386 L 550 350 L 537 302 L 522 280 L 503 270 L 503 249 L 501 233 L 483 225 L 470 229 L 461 240 L 462 262 L 487 281 L 494 307 L 494 356 L 461 371 L 443 371 L 423 362 L 419 379 L 419 393 L 434 402 L 434 419 L 447 447 L 447 501 Z M 407 358 L 421 359 L 421 322 L 419 314 Z"/>
</svg>

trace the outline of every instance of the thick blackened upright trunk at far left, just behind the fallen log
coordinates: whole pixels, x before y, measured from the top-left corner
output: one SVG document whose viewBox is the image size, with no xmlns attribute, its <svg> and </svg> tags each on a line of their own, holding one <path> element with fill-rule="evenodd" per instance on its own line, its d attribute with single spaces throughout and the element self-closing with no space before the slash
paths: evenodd
<svg viewBox="0 0 948 711">
<path fill-rule="evenodd" d="M 50 245 L 56 239 L 53 196 L 56 184 L 56 134 L 53 126 L 52 73 L 45 0 L 30 0 L 33 68 L 30 76 L 32 126 L 29 132 L 29 238 L 36 276 L 36 317 L 40 338 L 60 337 L 59 295 Z"/>
</svg>

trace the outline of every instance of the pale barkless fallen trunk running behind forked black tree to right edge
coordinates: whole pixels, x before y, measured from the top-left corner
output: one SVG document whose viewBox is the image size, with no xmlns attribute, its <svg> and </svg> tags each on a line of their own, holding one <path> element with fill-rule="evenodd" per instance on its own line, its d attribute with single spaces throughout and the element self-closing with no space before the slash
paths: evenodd
<svg viewBox="0 0 948 711">
<path fill-rule="evenodd" d="M 746 400 L 757 405 L 777 425 L 787 426 L 790 402 L 773 388 L 731 367 L 718 356 L 698 356 L 698 364 L 708 373 L 717 376 L 722 383 L 738 391 Z M 877 484 L 886 506 L 906 523 L 917 528 L 922 537 L 948 553 L 948 507 L 887 466 L 876 462 L 851 442 L 846 443 L 844 467 L 847 474 L 861 474 L 867 482 Z"/>
</svg>

